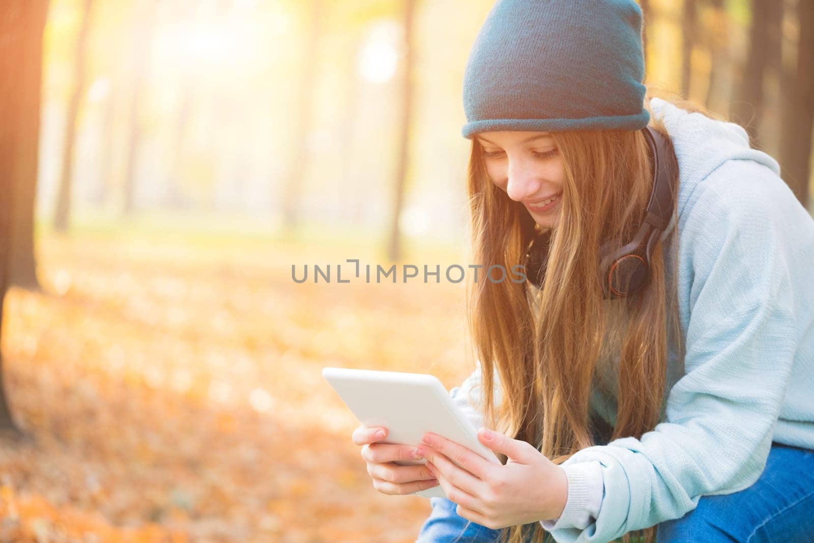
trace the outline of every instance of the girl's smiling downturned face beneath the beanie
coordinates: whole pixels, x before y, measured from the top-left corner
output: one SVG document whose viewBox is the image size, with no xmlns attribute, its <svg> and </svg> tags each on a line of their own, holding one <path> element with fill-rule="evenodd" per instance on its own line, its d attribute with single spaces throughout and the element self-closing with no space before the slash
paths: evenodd
<svg viewBox="0 0 814 543">
<path fill-rule="evenodd" d="M 547 132 L 503 130 L 475 136 L 483 148 L 489 179 L 534 221 L 545 228 L 556 223 L 565 169 L 554 138 Z"/>
</svg>

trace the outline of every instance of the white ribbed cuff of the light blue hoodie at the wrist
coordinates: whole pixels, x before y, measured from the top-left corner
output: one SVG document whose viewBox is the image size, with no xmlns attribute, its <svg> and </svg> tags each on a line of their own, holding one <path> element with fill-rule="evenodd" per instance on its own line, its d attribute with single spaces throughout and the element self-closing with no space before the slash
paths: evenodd
<svg viewBox="0 0 814 543">
<path fill-rule="evenodd" d="M 540 520 L 546 531 L 559 528 L 584 530 L 596 521 L 605 487 L 598 460 L 562 466 L 568 478 L 568 499 L 558 519 Z"/>
</svg>

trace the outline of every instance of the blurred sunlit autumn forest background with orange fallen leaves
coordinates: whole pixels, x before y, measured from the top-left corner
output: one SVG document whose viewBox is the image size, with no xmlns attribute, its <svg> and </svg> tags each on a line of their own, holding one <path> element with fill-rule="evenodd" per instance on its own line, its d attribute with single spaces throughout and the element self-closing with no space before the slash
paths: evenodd
<svg viewBox="0 0 814 543">
<path fill-rule="evenodd" d="M 491 5 L 2 2 L 0 541 L 414 540 L 427 500 L 376 493 L 320 370 L 472 369 L 464 283 L 336 267 L 466 267 Z M 641 6 L 646 82 L 811 210 L 814 2 Z"/>
</svg>

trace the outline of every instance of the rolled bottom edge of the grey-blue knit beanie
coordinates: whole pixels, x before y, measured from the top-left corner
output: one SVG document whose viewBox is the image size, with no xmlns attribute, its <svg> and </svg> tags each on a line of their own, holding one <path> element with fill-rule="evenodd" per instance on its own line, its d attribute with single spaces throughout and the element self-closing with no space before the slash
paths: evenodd
<svg viewBox="0 0 814 543">
<path fill-rule="evenodd" d="M 590 129 L 643 129 L 650 122 L 650 113 L 642 110 L 637 115 L 585 117 L 583 119 L 483 119 L 466 123 L 461 130 L 464 138 L 473 138 L 479 132 L 497 130 L 524 130 L 556 132 L 559 130 Z"/>
</svg>

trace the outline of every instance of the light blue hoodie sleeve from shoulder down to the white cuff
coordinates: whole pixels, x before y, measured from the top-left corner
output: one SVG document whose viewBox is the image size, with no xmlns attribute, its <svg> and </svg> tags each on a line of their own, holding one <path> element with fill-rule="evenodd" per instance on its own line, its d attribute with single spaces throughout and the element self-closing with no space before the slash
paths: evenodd
<svg viewBox="0 0 814 543">
<path fill-rule="evenodd" d="M 681 518 L 700 497 L 748 488 L 763 472 L 797 348 L 794 233 L 783 220 L 792 201 L 775 173 L 745 160 L 724 162 L 689 196 L 678 263 L 685 374 L 665 421 L 641 440 L 563 462 L 598 461 L 605 496 L 587 528 L 553 530 L 558 543 L 611 541 Z"/>
</svg>

